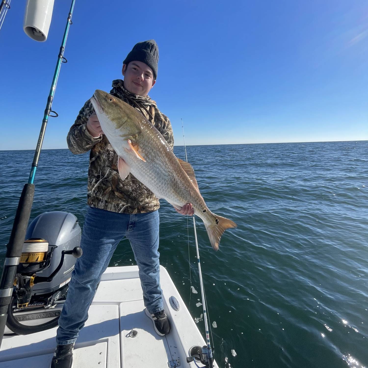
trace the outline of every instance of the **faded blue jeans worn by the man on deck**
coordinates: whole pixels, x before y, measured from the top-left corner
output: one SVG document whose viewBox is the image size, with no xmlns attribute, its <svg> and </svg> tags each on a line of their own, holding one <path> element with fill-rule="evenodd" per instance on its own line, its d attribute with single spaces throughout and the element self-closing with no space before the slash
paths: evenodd
<svg viewBox="0 0 368 368">
<path fill-rule="evenodd" d="M 144 305 L 150 313 L 163 309 L 159 264 L 159 213 L 116 213 L 88 207 L 81 248 L 59 318 L 56 343 L 77 340 L 88 318 L 88 309 L 100 277 L 109 265 L 117 244 L 128 238 L 139 268 Z M 118 292 L 118 291 L 117 291 Z"/>
</svg>

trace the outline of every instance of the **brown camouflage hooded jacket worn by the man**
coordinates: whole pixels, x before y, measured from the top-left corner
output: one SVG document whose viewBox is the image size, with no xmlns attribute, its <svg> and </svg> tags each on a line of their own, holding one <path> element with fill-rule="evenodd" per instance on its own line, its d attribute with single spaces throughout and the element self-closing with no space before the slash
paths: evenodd
<svg viewBox="0 0 368 368">
<path fill-rule="evenodd" d="M 128 92 L 121 79 L 114 80 L 112 86 L 110 93 L 143 113 L 173 149 L 174 137 L 170 120 L 160 112 L 156 102 L 148 96 L 141 97 Z M 91 150 L 88 169 L 88 205 L 121 213 L 157 210 L 160 207 L 159 200 L 132 174 L 129 174 L 124 181 L 121 180 L 117 170 L 117 154 L 106 136 L 93 138 L 89 134 L 86 123 L 93 112 L 92 103 L 88 100 L 67 136 L 68 148 L 72 153 L 85 153 Z"/>
</svg>

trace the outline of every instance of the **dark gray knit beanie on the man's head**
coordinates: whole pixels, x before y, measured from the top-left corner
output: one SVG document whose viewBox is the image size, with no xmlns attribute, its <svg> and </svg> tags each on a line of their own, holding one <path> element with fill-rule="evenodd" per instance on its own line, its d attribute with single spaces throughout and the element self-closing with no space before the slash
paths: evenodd
<svg viewBox="0 0 368 368">
<path fill-rule="evenodd" d="M 159 61 L 159 47 L 155 40 L 138 42 L 134 45 L 131 52 L 123 61 L 123 64 L 129 64 L 131 61 L 141 61 L 147 64 L 153 71 L 154 79 L 157 78 L 157 69 Z"/>
</svg>

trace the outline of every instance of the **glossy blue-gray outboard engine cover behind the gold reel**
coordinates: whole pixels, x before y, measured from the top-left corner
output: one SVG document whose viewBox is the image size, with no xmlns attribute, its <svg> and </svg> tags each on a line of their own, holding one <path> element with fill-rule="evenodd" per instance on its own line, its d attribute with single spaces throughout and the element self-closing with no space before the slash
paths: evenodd
<svg viewBox="0 0 368 368">
<path fill-rule="evenodd" d="M 50 245 L 56 245 L 50 266 L 36 273 L 37 276 L 50 276 L 60 263 L 61 251 L 72 250 L 79 247 L 81 243 L 81 227 L 78 224 L 77 217 L 68 212 L 54 211 L 45 212 L 37 216 L 31 224 L 29 224 L 26 239 L 42 238 L 49 242 Z M 46 294 L 56 291 L 63 283 L 71 277 L 74 270 L 76 259 L 72 255 L 64 256 L 64 263 L 57 275 L 54 276 L 52 282 L 35 284 L 32 288 L 32 295 Z"/>
</svg>

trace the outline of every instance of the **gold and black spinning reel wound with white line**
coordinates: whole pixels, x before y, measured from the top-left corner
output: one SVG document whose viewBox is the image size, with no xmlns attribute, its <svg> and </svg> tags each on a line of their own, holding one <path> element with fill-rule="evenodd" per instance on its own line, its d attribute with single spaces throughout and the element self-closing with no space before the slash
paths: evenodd
<svg viewBox="0 0 368 368">
<path fill-rule="evenodd" d="M 61 251 L 61 259 L 57 268 L 47 277 L 37 276 L 43 270 L 50 267 L 54 250 L 57 248 L 55 245 L 49 245 L 49 243 L 40 238 L 31 238 L 24 242 L 22 255 L 19 265 L 17 266 L 17 273 L 15 275 L 15 301 L 17 302 L 17 309 L 26 308 L 31 301 L 33 286 L 40 283 L 51 283 L 54 276 L 57 275 L 59 270 L 63 267 L 64 256 L 72 254 L 75 258 L 79 258 L 82 255 L 82 249 L 80 247 L 74 247 L 72 250 Z M 63 285 L 60 284 L 60 287 Z M 44 308 L 50 308 L 54 302 L 61 296 L 61 290 L 57 295 L 52 295 L 45 302 Z M 31 305 L 32 307 L 32 305 Z M 35 305 L 38 307 L 38 305 Z"/>
</svg>

